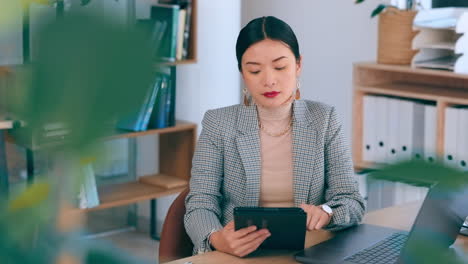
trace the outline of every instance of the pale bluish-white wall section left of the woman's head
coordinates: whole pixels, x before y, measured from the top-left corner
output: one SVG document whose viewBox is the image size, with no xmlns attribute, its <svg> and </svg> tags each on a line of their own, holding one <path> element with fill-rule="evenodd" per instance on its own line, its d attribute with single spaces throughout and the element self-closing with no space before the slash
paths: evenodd
<svg viewBox="0 0 468 264">
<path fill-rule="evenodd" d="M 177 67 L 179 119 L 199 124 L 208 109 L 240 102 L 236 39 L 240 0 L 198 0 L 198 63 Z"/>
</svg>

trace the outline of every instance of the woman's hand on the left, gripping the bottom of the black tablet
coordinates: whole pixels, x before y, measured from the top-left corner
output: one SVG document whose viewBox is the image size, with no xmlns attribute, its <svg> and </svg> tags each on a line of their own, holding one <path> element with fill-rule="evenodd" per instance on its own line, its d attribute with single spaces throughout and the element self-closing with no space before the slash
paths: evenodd
<svg viewBox="0 0 468 264">
<path fill-rule="evenodd" d="M 235 231 L 234 221 L 210 236 L 211 245 L 218 251 L 244 257 L 255 251 L 270 236 L 267 229 L 257 231 L 256 226 L 249 226 Z"/>
</svg>

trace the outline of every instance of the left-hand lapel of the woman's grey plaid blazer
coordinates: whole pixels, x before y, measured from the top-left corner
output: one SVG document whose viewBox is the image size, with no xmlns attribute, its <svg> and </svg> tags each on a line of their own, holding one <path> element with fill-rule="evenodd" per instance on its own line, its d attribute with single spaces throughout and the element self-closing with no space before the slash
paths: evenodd
<svg viewBox="0 0 468 264">
<path fill-rule="evenodd" d="M 236 138 L 236 143 L 246 176 L 244 206 L 258 206 L 262 162 L 255 106 L 241 106 L 237 118 L 237 129 L 240 131 L 240 135 Z"/>
</svg>

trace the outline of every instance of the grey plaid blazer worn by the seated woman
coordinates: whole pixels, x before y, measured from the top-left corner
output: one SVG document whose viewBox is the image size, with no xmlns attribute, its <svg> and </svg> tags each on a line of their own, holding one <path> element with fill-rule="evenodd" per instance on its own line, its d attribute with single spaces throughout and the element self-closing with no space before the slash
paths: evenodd
<svg viewBox="0 0 468 264">
<path fill-rule="evenodd" d="M 353 178 L 349 146 L 333 107 L 307 100 L 293 105 L 294 204 L 333 208 L 328 230 L 361 221 L 364 202 Z M 209 110 L 192 164 L 184 224 L 194 253 L 210 251 L 209 235 L 233 220 L 236 206 L 258 206 L 260 135 L 255 106 Z"/>
</svg>

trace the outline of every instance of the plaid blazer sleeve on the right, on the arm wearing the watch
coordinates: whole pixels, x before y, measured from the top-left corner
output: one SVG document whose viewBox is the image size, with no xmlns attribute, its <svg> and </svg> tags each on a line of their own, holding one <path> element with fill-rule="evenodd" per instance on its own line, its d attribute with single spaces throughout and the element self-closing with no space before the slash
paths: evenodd
<svg viewBox="0 0 468 264">
<path fill-rule="evenodd" d="M 325 200 L 333 209 L 326 229 L 336 231 L 359 223 L 365 211 L 364 199 L 354 179 L 350 148 L 344 138 L 335 108 L 325 134 Z"/>
</svg>

